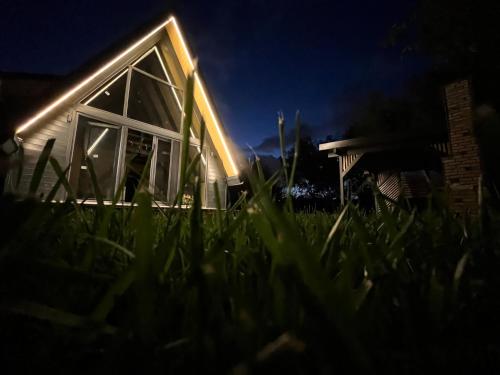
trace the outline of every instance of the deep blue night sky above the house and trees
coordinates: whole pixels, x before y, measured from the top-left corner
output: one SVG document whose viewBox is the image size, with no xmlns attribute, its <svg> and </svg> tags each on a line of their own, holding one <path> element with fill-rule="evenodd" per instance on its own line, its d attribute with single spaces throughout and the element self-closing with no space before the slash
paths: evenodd
<svg viewBox="0 0 500 375">
<path fill-rule="evenodd" d="M 353 101 L 397 93 L 422 64 L 383 47 L 412 1 L 3 0 L 0 71 L 67 74 L 175 9 L 235 143 L 272 152 L 276 114 L 340 136 Z"/>
</svg>

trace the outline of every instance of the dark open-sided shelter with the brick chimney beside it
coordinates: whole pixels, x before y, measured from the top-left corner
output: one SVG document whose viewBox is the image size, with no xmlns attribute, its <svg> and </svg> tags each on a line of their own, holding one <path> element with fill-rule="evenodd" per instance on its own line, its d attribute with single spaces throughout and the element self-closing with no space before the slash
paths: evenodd
<svg viewBox="0 0 500 375">
<path fill-rule="evenodd" d="M 338 159 L 340 199 L 349 197 L 350 173 L 361 168 L 371 173 L 385 196 L 414 201 L 433 188 L 448 190 L 450 207 L 457 213 L 477 214 L 481 159 L 474 135 L 470 82 L 445 87 L 446 132 L 354 138 L 319 145 Z"/>
</svg>

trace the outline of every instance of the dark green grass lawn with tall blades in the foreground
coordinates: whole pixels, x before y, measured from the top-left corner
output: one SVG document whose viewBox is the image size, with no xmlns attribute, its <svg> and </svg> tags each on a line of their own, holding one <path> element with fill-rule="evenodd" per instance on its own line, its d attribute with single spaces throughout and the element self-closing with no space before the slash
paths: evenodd
<svg viewBox="0 0 500 375">
<path fill-rule="evenodd" d="M 191 84 L 191 86 L 190 86 Z M 189 131 L 188 82 L 184 134 Z M 280 134 L 284 133 L 283 124 Z M 184 146 L 187 144 L 185 137 Z M 438 194 L 416 212 L 294 213 L 279 179 L 201 209 L 199 158 L 181 180 L 189 209 L 78 204 L 40 157 L 31 197 L 0 200 L 0 360 L 15 372 L 423 373 L 498 369 L 498 216 L 457 218 Z M 48 164 L 60 179 L 36 196 Z M 286 171 L 286 174 L 285 174 Z M 59 187 L 68 199 L 51 203 Z M 182 203 L 183 191 L 176 198 Z"/>
</svg>

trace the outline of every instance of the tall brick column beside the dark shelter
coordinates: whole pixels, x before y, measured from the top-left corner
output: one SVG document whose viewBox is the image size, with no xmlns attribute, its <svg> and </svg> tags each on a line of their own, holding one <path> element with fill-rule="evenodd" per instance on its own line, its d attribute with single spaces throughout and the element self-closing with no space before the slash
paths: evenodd
<svg viewBox="0 0 500 375">
<path fill-rule="evenodd" d="M 451 155 L 443 158 L 449 203 L 460 215 L 479 213 L 478 185 L 481 176 L 479 146 L 474 135 L 470 82 L 445 87 Z"/>
</svg>

